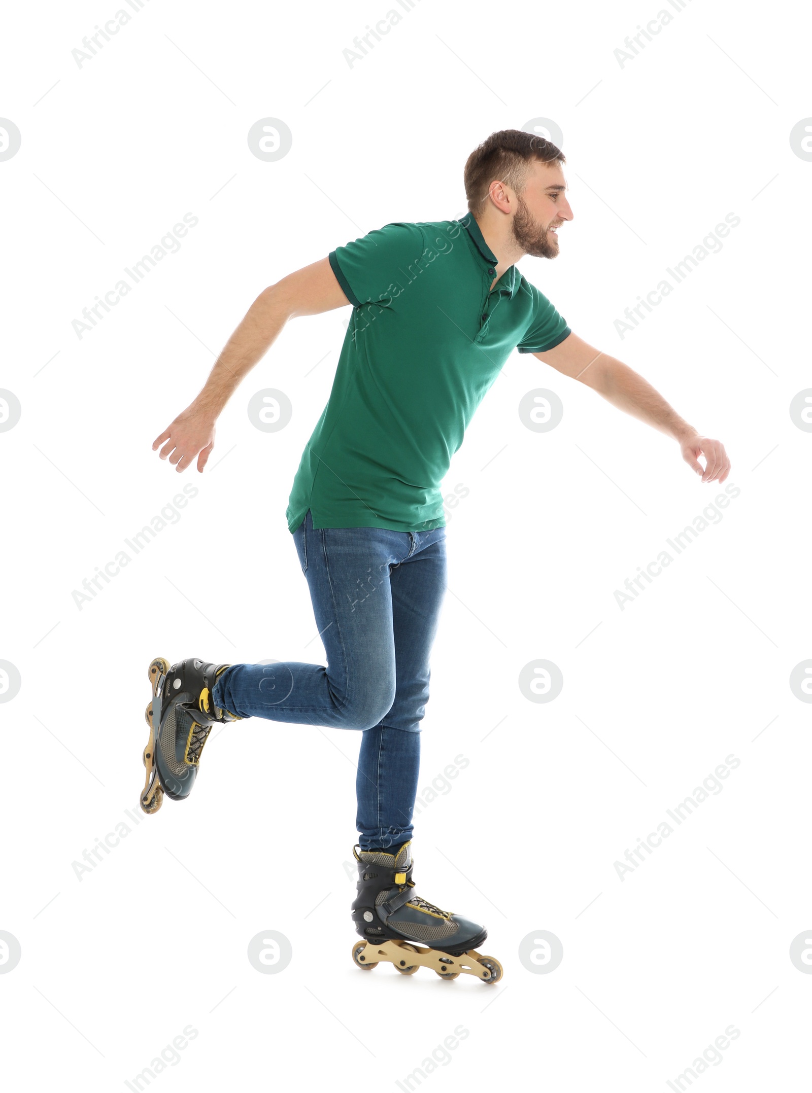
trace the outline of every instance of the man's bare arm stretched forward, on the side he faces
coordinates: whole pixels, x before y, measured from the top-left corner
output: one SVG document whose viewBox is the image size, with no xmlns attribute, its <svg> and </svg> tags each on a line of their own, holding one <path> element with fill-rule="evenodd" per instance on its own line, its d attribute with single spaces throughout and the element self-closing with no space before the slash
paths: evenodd
<svg viewBox="0 0 812 1093">
<path fill-rule="evenodd" d="M 618 410 L 625 410 L 647 425 L 673 436 L 680 445 L 683 459 L 697 474 L 701 474 L 703 482 L 723 482 L 730 473 L 730 460 L 723 445 L 719 440 L 700 436 L 651 384 L 623 361 L 593 349 L 572 333 L 546 353 L 534 353 L 533 356 L 565 376 L 591 387 Z M 705 456 L 704 470 L 698 461 L 700 455 Z"/>
</svg>

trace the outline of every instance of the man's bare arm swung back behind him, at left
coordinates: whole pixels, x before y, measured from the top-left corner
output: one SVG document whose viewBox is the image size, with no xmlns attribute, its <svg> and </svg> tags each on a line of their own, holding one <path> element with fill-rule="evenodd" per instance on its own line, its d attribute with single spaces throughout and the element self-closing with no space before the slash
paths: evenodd
<svg viewBox="0 0 812 1093">
<path fill-rule="evenodd" d="M 163 445 L 161 459 L 169 457 L 178 471 L 185 471 L 197 456 L 201 471 L 214 447 L 214 422 L 221 410 L 288 319 L 332 312 L 348 303 L 326 258 L 263 290 L 225 343 L 204 389 L 155 438 L 152 450 Z"/>
</svg>

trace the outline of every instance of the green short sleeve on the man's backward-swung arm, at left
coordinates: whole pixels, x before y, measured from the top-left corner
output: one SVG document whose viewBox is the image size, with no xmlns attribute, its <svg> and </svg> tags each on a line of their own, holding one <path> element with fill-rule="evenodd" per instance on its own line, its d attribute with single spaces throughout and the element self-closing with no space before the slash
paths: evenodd
<svg viewBox="0 0 812 1093">
<path fill-rule="evenodd" d="M 328 255 L 329 265 L 347 299 L 353 307 L 378 303 L 397 295 L 397 285 L 407 283 L 409 267 L 425 249 L 417 224 L 386 224 Z"/>
</svg>

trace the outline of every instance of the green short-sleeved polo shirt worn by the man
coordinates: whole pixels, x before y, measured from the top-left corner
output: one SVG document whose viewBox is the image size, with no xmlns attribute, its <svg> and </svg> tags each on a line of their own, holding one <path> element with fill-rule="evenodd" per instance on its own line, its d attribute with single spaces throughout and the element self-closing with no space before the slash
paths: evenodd
<svg viewBox="0 0 812 1093">
<path fill-rule="evenodd" d="M 352 304 L 329 401 L 288 504 L 294 531 L 443 527 L 440 483 L 513 349 L 553 349 L 570 329 L 515 266 L 497 259 L 471 213 L 386 224 L 329 255 Z"/>
</svg>

